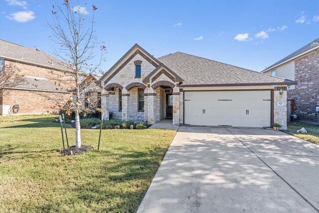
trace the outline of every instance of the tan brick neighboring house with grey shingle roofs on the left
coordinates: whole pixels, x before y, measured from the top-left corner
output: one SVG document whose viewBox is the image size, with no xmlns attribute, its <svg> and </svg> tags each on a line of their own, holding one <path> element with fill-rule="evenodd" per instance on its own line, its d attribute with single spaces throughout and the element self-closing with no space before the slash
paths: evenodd
<svg viewBox="0 0 319 213">
<path fill-rule="evenodd" d="M 44 96 L 70 96 L 67 90 L 50 80 L 67 68 L 43 51 L 0 40 L 0 61 L 1 64 L 14 65 L 25 79 L 23 84 L 6 90 L 0 97 L 0 116 L 47 113 L 55 103 Z"/>
</svg>

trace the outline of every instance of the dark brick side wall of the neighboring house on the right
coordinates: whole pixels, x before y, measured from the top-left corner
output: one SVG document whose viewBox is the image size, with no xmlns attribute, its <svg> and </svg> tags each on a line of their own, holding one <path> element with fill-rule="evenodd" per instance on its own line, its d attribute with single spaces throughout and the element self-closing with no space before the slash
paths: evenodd
<svg viewBox="0 0 319 213">
<path fill-rule="evenodd" d="M 314 52 L 295 61 L 295 89 L 288 90 L 288 99 L 295 99 L 295 112 L 300 120 L 317 122 L 319 106 L 319 53 Z"/>
</svg>

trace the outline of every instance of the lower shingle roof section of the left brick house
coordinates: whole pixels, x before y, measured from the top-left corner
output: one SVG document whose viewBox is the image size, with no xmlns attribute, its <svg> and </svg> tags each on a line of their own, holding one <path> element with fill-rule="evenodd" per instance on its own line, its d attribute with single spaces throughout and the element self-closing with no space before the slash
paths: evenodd
<svg viewBox="0 0 319 213">
<path fill-rule="evenodd" d="M 15 86 L 14 88 L 19 89 L 32 89 L 32 90 L 46 90 L 52 92 L 67 92 L 67 90 L 63 89 L 58 85 L 54 85 L 53 83 L 37 77 L 25 76 L 24 82 Z"/>
</svg>

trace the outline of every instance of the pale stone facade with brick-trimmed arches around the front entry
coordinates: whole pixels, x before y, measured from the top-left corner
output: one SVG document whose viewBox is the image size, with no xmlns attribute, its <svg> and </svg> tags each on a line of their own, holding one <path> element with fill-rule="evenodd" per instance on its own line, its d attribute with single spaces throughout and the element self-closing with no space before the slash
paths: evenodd
<svg viewBox="0 0 319 213">
<path fill-rule="evenodd" d="M 135 51 L 136 52 L 136 51 Z M 160 69 L 154 73 L 149 83 L 143 83 L 143 79 L 148 76 L 157 64 L 139 54 L 134 54 L 134 57 L 128 57 L 130 60 L 125 60 L 124 63 L 115 68 L 111 74 L 112 78 L 107 77 L 102 79 L 102 86 L 108 90 L 102 98 L 104 111 L 112 113 L 113 119 L 138 121 L 147 121 L 149 124 L 165 118 L 166 93 L 163 86 L 171 88 L 176 94 L 173 101 L 173 121 L 175 125 L 180 124 L 179 112 L 179 87 L 174 82 L 175 78 L 165 69 Z M 135 77 L 135 66 L 141 65 L 141 78 Z M 115 73 L 115 74 L 114 74 Z M 122 90 L 122 111 L 119 111 L 119 89 Z M 144 111 L 138 110 L 138 91 L 144 90 Z M 177 94 L 178 92 L 178 94 Z M 172 92 L 171 92 L 172 93 Z M 107 117 L 105 117 L 108 119 Z"/>
</svg>

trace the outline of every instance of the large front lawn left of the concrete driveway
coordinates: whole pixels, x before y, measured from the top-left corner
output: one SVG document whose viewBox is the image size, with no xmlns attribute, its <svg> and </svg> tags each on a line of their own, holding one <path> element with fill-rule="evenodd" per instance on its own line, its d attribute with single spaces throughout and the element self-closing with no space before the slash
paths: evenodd
<svg viewBox="0 0 319 213">
<path fill-rule="evenodd" d="M 63 157 L 54 116 L 0 117 L 0 212 L 136 212 L 175 131 L 82 129 Z M 68 128 L 70 145 L 75 130 Z"/>
</svg>

